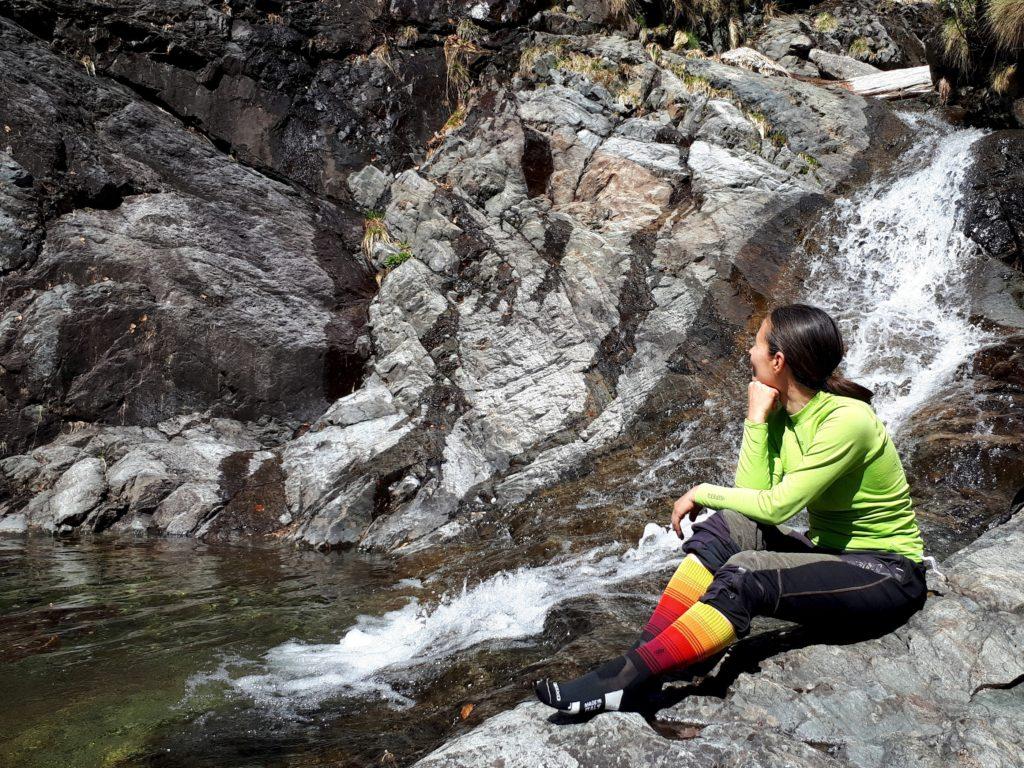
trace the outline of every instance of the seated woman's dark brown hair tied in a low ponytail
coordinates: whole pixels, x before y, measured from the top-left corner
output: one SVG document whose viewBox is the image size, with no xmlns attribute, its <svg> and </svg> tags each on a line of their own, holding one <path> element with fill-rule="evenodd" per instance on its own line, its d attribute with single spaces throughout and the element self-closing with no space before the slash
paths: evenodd
<svg viewBox="0 0 1024 768">
<path fill-rule="evenodd" d="M 781 351 L 793 378 L 810 389 L 870 402 L 872 392 L 836 372 L 846 347 L 836 321 L 808 304 L 776 307 L 768 316 L 768 351 Z"/>
</svg>

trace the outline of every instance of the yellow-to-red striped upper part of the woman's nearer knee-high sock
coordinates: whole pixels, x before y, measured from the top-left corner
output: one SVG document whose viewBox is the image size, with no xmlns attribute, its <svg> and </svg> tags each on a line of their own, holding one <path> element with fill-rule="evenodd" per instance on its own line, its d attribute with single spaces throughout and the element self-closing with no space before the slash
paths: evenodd
<svg viewBox="0 0 1024 768">
<path fill-rule="evenodd" d="M 729 647 L 736 640 L 732 624 L 717 608 L 695 602 L 653 640 L 636 649 L 651 675 L 687 667 Z"/>
</svg>

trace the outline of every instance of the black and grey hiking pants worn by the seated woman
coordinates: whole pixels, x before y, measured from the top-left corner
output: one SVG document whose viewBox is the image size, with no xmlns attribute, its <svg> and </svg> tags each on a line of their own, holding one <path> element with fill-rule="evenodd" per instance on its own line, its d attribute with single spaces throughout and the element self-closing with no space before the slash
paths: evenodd
<svg viewBox="0 0 1024 768">
<path fill-rule="evenodd" d="M 891 552 L 815 547 L 787 525 L 765 525 L 729 509 L 693 526 L 683 551 L 715 579 L 700 598 L 738 637 L 756 615 L 825 631 L 890 631 L 925 604 L 922 563 Z"/>
</svg>

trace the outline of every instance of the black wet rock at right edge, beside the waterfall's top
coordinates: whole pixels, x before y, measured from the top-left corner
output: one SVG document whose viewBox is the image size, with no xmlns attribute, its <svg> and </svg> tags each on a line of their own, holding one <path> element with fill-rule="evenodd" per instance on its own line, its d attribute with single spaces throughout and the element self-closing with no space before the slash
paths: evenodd
<svg viewBox="0 0 1024 768">
<path fill-rule="evenodd" d="M 1024 270 L 1024 130 L 978 139 L 968 183 L 965 233 L 989 256 Z"/>
</svg>

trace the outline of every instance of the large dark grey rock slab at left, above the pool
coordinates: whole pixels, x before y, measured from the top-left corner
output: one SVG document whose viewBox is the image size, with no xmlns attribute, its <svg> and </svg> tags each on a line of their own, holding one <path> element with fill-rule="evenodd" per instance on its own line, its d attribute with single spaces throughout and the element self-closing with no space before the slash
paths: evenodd
<svg viewBox="0 0 1024 768">
<path fill-rule="evenodd" d="M 0 176 L 0 226 L 18 230 L 0 257 L 7 450 L 61 420 L 152 426 L 212 409 L 294 427 L 351 388 L 373 286 L 347 245 L 354 214 L 0 25 L 16 161 Z"/>
</svg>

